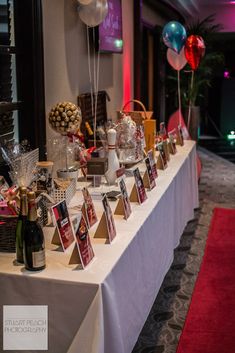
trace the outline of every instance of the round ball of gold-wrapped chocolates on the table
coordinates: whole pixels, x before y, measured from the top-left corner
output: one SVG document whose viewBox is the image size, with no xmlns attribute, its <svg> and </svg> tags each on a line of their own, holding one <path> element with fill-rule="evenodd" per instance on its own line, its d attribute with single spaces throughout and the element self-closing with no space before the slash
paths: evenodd
<svg viewBox="0 0 235 353">
<path fill-rule="evenodd" d="M 77 132 L 81 122 L 81 109 L 71 102 L 57 103 L 49 113 L 50 126 L 62 135 Z"/>
</svg>

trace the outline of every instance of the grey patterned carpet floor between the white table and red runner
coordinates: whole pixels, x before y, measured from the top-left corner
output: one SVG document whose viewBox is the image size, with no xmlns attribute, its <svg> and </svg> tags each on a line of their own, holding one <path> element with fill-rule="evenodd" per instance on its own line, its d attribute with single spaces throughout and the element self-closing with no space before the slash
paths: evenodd
<svg viewBox="0 0 235 353">
<path fill-rule="evenodd" d="M 132 353 L 175 353 L 204 254 L 214 207 L 235 208 L 235 164 L 199 149 L 200 207 L 175 249 L 155 303 Z"/>
</svg>

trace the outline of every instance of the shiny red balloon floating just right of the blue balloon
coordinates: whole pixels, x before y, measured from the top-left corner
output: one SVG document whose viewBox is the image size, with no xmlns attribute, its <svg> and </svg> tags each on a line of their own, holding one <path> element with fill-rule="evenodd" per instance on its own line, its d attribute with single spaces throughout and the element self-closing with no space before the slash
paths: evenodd
<svg viewBox="0 0 235 353">
<path fill-rule="evenodd" d="M 184 53 L 192 70 L 198 68 L 201 58 L 205 54 L 205 50 L 206 46 L 202 37 L 191 35 L 187 38 Z"/>
</svg>

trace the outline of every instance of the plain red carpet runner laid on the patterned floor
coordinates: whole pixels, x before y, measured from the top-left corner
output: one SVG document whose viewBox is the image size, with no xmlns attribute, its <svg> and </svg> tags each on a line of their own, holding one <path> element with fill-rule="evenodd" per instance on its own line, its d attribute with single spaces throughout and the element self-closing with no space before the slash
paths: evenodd
<svg viewBox="0 0 235 353">
<path fill-rule="evenodd" d="M 177 353 L 235 352 L 235 210 L 216 208 Z"/>
</svg>

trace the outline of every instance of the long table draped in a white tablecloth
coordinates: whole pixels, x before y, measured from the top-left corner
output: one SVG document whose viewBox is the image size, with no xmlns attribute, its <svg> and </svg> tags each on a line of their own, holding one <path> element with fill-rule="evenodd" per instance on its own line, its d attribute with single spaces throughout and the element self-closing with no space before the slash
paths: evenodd
<svg viewBox="0 0 235 353">
<path fill-rule="evenodd" d="M 13 254 L 1 253 L 0 317 L 3 305 L 48 305 L 49 353 L 130 353 L 198 207 L 195 143 L 185 141 L 158 173 L 156 188 L 144 204 L 132 204 L 129 220 L 115 216 L 114 242 L 94 244 L 86 270 L 48 250 L 46 269 L 29 273 Z"/>
</svg>

